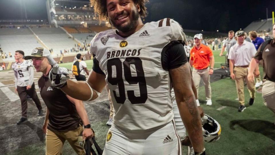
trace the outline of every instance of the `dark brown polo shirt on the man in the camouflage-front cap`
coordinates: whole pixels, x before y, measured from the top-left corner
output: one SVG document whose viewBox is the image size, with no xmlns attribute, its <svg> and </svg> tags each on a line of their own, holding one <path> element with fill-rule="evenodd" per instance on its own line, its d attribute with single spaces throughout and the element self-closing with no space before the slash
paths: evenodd
<svg viewBox="0 0 275 155">
<path fill-rule="evenodd" d="M 47 76 L 42 75 L 38 80 L 40 95 L 49 109 L 48 129 L 53 131 L 74 130 L 82 125 L 75 105 L 70 102 L 62 90 L 55 88 Z"/>
</svg>

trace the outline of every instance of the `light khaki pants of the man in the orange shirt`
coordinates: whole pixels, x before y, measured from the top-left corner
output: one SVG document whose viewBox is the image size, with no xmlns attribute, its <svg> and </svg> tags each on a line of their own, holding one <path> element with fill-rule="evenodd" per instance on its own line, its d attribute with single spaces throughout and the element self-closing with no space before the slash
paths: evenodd
<svg viewBox="0 0 275 155">
<path fill-rule="evenodd" d="M 202 78 L 203 84 L 205 87 L 206 99 L 210 100 L 211 99 L 211 86 L 210 86 L 209 68 L 201 69 L 201 70 L 193 68 L 192 76 L 193 76 L 195 87 L 197 89 L 198 97 L 199 97 L 199 86 L 200 86 L 200 82 L 201 82 L 201 78 Z"/>
</svg>

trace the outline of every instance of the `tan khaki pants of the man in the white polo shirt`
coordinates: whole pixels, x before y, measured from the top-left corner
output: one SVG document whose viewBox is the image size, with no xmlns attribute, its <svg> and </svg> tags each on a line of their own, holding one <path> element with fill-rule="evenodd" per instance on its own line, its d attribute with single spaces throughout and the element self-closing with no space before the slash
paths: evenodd
<svg viewBox="0 0 275 155">
<path fill-rule="evenodd" d="M 235 83 L 236 83 L 236 88 L 237 88 L 237 93 L 238 93 L 238 97 L 239 97 L 239 103 L 241 105 L 244 105 L 244 91 L 243 91 L 243 81 L 245 80 L 246 82 L 246 86 L 248 88 L 248 91 L 250 93 L 250 98 L 255 98 L 255 92 L 256 92 L 256 88 L 255 88 L 255 82 L 250 82 L 247 79 L 247 67 L 238 67 L 235 66 L 234 67 L 234 74 L 235 74 Z"/>
</svg>

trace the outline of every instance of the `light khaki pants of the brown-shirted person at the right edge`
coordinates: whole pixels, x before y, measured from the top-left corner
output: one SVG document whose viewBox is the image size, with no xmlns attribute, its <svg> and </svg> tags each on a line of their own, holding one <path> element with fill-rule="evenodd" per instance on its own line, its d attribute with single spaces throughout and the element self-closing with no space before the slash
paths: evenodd
<svg viewBox="0 0 275 155">
<path fill-rule="evenodd" d="M 264 105 L 275 113 L 275 82 L 263 81 L 262 97 L 264 98 Z"/>
</svg>

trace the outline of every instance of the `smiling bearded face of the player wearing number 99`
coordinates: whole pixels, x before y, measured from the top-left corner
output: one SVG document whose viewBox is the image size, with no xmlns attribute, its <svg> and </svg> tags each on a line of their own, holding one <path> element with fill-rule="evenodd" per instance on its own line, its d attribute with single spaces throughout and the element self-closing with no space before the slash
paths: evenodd
<svg viewBox="0 0 275 155">
<path fill-rule="evenodd" d="M 140 7 L 132 0 L 107 0 L 110 23 L 121 32 L 128 32 L 137 27 Z"/>
</svg>

